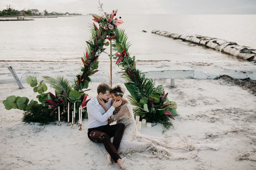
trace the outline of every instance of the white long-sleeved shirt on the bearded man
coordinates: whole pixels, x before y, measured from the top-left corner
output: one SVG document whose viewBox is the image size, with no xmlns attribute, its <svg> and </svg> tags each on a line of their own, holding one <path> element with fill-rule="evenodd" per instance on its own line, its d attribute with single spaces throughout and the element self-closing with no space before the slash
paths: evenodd
<svg viewBox="0 0 256 170">
<path fill-rule="evenodd" d="M 108 111 L 106 112 L 97 100 L 97 96 L 93 97 L 90 101 L 88 101 L 88 129 L 108 124 L 108 118 L 113 114 L 113 111 L 115 110 L 115 108 L 111 106 L 111 102 L 112 99 L 109 98 L 108 102 L 106 103 L 106 106 L 108 108 Z"/>
</svg>

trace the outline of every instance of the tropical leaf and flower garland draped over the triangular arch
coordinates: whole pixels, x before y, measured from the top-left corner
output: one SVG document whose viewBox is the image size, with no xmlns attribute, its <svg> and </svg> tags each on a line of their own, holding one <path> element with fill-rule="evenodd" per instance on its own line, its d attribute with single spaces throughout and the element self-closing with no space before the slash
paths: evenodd
<svg viewBox="0 0 256 170">
<path fill-rule="evenodd" d="M 169 101 L 168 93 L 164 93 L 162 85 L 155 87 L 152 79 L 145 78 L 145 75 L 141 75 L 141 71 L 136 69 L 135 56 L 131 57 L 128 52 L 131 44 L 127 42 L 128 37 L 124 29 L 118 27 L 124 21 L 120 20 L 121 17 L 118 19 L 116 14 L 117 10 L 110 14 L 104 12 L 101 16 L 89 14 L 93 16 L 93 21 L 99 24 L 99 28 L 95 23 L 91 25 L 91 39 L 86 41 L 86 53 L 81 58 L 84 67 L 77 75 L 77 87 L 79 90 L 88 87 L 87 84 L 91 80 L 89 76 L 99 71 L 95 65 L 98 65 L 99 55 L 106 49 L 103 46 L 109 45 L 105 40 L 112 40 L 113 51 L 116 53 L 108 56 L 116 59 L 116 65 L 122 67 L 125 86 L 131 94 L 129 100 L 132 105 L 137 106 L 134 115 L 151 122 L 169 122 L 169 118 L 174 119 L 173 116 L 177 114 L 177 104 Z"/>
</svg>

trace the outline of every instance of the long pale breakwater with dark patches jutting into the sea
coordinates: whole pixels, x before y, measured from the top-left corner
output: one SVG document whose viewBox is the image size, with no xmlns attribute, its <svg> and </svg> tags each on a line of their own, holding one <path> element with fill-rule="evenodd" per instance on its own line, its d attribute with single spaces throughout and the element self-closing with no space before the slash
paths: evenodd
<svg viewBox="0 0 256 170">
<path fill-rule="evenodd" d="M 158 29 L 153 29 L 151 33 L 155 33 L 155 34 L 173 38 L 173 39 L 181 39 L 182 41 L 187 41 L 194 44 L 207 46 L 209 48 L 212 48 L 227 54 L 231 54 L 233 56 L 237 56 L 239 58 L 246 59 L 248 61 L 256 61 L 255 49 L 247 46 L 240 46 L 235 42 L 230 42 L 230 41 L 226 41 L 218 38 L 205 37 L 201 35 L 182 35 L 182 34 L 169 33 L 167 31 L 161 31 Z"/>
</svg>

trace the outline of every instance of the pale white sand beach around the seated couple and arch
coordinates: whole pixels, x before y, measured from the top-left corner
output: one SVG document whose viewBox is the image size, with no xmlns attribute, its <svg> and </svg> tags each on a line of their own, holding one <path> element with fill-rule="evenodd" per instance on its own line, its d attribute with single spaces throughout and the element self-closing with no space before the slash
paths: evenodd
<svg viewBox="0 0 256 170">
<path fill-rule="evenodd" d="M 8 64 L 1 62 L 1 70 L 7 69 Z M 0 169 L 120 169 L 117 164 L 107 165 L 103 144 L 88 139 L 87 119 L 83 120 L 84 130 L 79 131 L 77 125 L 71 129 L 66 122 L 61 122 L 62 126 L 24 123 L 21 121 L 23 111 L 5 110 L 2 101 L 9 95 L 36 99 L 37 94 L 25 82 L 27 75 L 63 73 L 72 80 L 75 74 L 75 71 L 68 71 L 71 70 L 70 64 L 58 69 L 60 63 L 54 63 L 54 68 L 57 68 L 54 70 L 51 64 L 41 62 L 41 67 L 29 71 L 23 64 L 14 69 L 17 73 L 23 72 L 19 77 L 24 89 L 19 90 L 11 76 L 8 76 L 10 82 L 0 84 Z M 101 77 L 102 82 L 108 82 L 107 75 L 106 80 Z M 92 88 L 88 91 L 89 97 L 96 95 L 99 82 L 95 79 L 99 80 L 97 75 L 89 85 Z M 114 76 L 113 85 L 123 82 Z M 163 84 L 169 99 L 178 104 L 179 115 L 172 120 L 174 127 L 166 133 L 179 133 L 195 143 L 218 143 L 220 148 L 217 151 L 199 150 L 196 158 L 191 160 L 159 160 L 130 154 L 126 161 L 127 169 L 256 168 L 256 98 L 253 94 L 222 80 L 181 78 L 175 79 L 174 88 L 169 83 L 168 78 L 156 80 L 156 84 Z M 51 91 L 49 86 L 48 91 Z M 126 96 L 128 94 L 127 91 Z M 162 125 L 157 124 L 150 129 L 142 126 L 141 133 L 159 137 L 161 131 Z"/>
</svg>

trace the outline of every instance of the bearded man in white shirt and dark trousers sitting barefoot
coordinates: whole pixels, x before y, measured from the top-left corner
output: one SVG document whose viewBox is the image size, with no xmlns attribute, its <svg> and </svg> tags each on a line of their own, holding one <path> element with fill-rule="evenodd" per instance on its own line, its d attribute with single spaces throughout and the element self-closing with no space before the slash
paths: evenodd
<svg viewBox="0 0 256 170">
<path fill-rule="evenodd" d="M 93 97 L 87 103 L 88 112 L 88 137 L 93 142 L 103 143 L 105 149 L 109 154 L 107 154 L 108 163 L 112 164 L 111 158 L 115 163 L 125 169 L 125 160 L 121 159 L 118 154 L 118 148 L 124 133 L 125 125 L 118 123 L 115 125 L 108 124 L 108 118 L 113 114 L 116 107 L 120 106 L 122 101 L 114 101 L 111 106 L 112 99 L 110 98 L 110 86 L 101 83 L 97 88 L 98 95 Z M 104 103 L 108 109 L 105 111 L 100 103 Z M 111 143 L 110 138 L 114 136 L 113 143 Z M 111 157 L 110 157 L 111 156 Z"/>
</svg>

